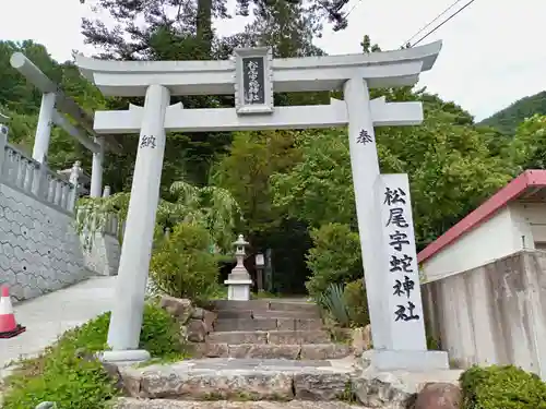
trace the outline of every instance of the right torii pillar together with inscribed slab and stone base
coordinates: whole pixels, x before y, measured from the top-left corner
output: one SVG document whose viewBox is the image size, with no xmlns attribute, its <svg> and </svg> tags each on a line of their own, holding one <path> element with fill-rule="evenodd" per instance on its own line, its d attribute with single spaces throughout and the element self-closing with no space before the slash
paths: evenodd
<svg viewBox="0 0 546 409">
<path fill-rule="evenodd" d="M 366 80 L 345 82 L 351 166 L 373 349 L 363 359 L 382 371 L 449 369 L 428 351 L 407 176 L 380 175 Z"/>
</svg>

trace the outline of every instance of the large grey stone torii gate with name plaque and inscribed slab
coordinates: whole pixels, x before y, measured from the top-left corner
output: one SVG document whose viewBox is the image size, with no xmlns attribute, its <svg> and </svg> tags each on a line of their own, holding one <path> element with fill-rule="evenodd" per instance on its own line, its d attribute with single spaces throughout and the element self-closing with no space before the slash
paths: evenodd
<svg viewBox="0 0 546 409">
<path fill-rule="evenodd" d="M 404 50 L 273 59 L 269 48 L 235 50 L 225 61 L 105 61 L 76 57 L 106 96 L 145 96 L 144 106 L 98 111 L 97 133 L 140 133 L 116 304 L 105 360 L 142 360 L 138 350 L 155 213 L 168 131 L 242 131 L 348 124 L 358 230 L 375 350 L 382 370 L 447 369 L 427 351 L 406 175 L 381 176 L 373 127 L 423 121 L 420 103 L 369 99 L 369 88 L 408 86 L 430 70 L 441 41 Z M 273 93 L 343 89 L 344 101 L 274 107 Z M 183 109 L 173 95 L 233 95 L 235 108 Z"/>
</svg>

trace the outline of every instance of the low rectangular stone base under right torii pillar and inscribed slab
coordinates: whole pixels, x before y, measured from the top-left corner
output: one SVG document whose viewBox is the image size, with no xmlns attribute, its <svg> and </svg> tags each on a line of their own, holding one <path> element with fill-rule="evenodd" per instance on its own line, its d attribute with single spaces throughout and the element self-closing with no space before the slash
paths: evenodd
<svg viewBox="0 0 546 409">
<path fill-rule="evenodd" d="M 378 371 L 425 372 L 449 370 L 448 352 L 444 351 L 394 351 L 370 349 L 361 356 L 364 368 L 372 366 Z"/>
</svg>

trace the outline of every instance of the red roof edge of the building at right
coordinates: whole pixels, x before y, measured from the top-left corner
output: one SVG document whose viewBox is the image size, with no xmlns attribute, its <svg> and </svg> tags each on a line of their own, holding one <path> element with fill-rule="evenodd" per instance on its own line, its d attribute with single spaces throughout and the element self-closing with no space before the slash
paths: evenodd
<svg viewBox="0 0 546 409">
<path fill-rule="evenodd" d="M 505 207 L 511 201 L 520 197 L 529 188 L 541 189 L 545 187 L 546 170 L 525 170 L 484 202 L 478 208 L 470 213 L 455 226 L 428 244 L 425 250 L 417 254 L 418 262 L 423 263 L 430 258 L 432 255 L 443 250 L 443 248 L 456 241 L 464 233 L 488 220 L 497 210 Z"/>
</svg>

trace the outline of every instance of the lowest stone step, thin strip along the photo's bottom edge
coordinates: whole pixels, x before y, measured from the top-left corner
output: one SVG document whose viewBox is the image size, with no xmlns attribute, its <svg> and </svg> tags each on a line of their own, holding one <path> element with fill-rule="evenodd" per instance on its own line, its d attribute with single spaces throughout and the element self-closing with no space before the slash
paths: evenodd
<svg viewBox="0 0 546 409">
<path fill-rule="evenodd" d="M 343 401 L 228 401 L 228 400 L 169 400 L 120 398 L 115 409 L 363 409 Z"/>
</svg>

